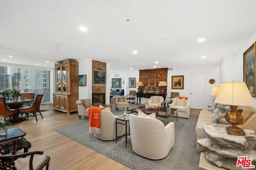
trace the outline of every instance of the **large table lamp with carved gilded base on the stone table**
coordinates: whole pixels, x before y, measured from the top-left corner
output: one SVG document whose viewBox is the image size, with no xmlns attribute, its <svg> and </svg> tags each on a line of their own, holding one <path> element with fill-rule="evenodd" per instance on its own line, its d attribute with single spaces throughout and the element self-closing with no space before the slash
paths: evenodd
<svg viewBox="0 0 256 170">
<path fill-rule="evenodd" d="M 237 106 L 255 105 L 245 82 L 224 82 L 214 102 L 230 105 L 231 112 L 225 114 L 225 119 L 232 126 L 226 127 L 226 132 L 230 135 L 244 136 L 244 130 L 237 127 L 243 122 L 242 111 L 238 111 Z"/>
</svg>

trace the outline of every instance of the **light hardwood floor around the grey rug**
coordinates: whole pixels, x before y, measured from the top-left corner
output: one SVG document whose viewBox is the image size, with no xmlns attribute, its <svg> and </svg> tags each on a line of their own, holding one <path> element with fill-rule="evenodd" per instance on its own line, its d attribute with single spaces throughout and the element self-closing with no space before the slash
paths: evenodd
<svg viewBox="0 0 256 170">
<path fill-rule="evenodd" d="M 43 119 L 38 116 L 36 122 L 34 117 L 29 117 L 26 121 L 13 123 L 12 127 L 20 127 L 27 133 L 25 138 L 32 144 L 29 151 L 43 150 L 44 154 L 50 156 L 50 170 L 130 170 L 127 166 L 53 130 L 79 122 L 78 113 L 66 115 L 54 111 L 52 104 L 41 105 L 41 109 L 50 109 L 42 112 Z M 191 109 L 191 114 L 199 114 L 199 111 Z"/>
</svg>

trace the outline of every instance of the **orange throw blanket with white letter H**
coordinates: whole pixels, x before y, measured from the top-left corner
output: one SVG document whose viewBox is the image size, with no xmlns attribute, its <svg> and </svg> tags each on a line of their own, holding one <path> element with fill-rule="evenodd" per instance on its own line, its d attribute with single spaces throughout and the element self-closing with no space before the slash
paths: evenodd
<svg viewBox="0 0 256 170">
<path fill-rule="evenodd" d="M 101 107 L 89 107 L 89 133 L 96 133 L 100 135 L 100 111 L 104 109 Z"/>
</svg>

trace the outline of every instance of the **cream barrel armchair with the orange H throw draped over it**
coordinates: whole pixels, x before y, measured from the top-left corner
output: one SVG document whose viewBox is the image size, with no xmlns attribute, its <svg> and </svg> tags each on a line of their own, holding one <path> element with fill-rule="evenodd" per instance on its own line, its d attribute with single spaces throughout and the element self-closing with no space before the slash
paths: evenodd
<svg viewBox="0 0 256 170">
<path fill-rule="evenodd" d="M 100 111 L 100 135 L 94 134 L 98 139 L 111 141 L 116 139 L 116 116 L 107 109 Z M 125 134 L 125 125 L 117 124 L 117 136 Z"/>
</svg>

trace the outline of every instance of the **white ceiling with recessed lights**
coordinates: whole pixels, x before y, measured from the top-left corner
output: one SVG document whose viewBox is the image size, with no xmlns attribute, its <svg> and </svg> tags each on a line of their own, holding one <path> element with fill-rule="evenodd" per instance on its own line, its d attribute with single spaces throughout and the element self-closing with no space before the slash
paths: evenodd
<svg viewBox="0 0 256 170">
<path fill-rule="evenodd" d="M 256 31 L 255 7 L 256 0 L 1 0 L 0 62 L 52 68 L 91 58 L 111 71 L 221 63 Z"/>
</svg>

